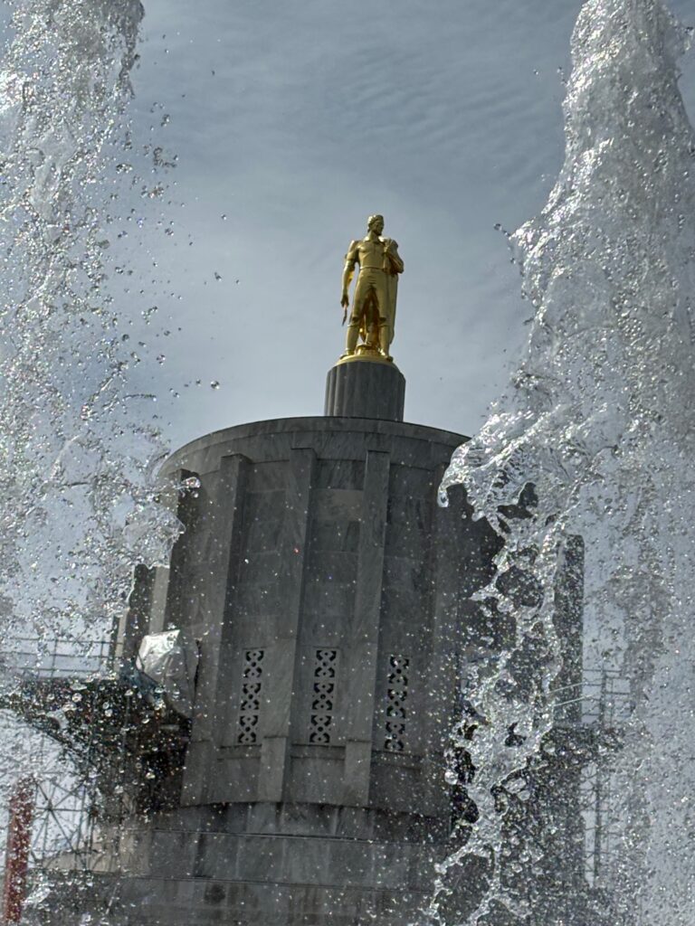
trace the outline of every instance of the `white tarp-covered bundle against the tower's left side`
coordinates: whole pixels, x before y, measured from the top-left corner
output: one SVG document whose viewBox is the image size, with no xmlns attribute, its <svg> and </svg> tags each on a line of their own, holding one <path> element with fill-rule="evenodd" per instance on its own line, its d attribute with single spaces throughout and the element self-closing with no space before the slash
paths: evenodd
<svg viewBox="0 0 695 926">
<path fill-rule="evenodd" d="M 196 642 L 181 630 L 171 630 L 143 637 L 135 668 L 162 689 L 174 710 L 191 717 L 197 662 Z"/>
</svg>

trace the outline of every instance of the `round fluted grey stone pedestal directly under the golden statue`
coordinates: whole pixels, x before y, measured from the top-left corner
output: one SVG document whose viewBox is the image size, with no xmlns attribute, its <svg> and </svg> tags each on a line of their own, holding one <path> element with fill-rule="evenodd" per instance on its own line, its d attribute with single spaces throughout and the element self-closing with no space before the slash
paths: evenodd
<svg viewBox="0 0 695 926">
<path fill-rule="evenodd" d="M 324 415 L 402 421 L 405 377 L 375 357 L 349 357 L 328 370 Z"/>
</svg>

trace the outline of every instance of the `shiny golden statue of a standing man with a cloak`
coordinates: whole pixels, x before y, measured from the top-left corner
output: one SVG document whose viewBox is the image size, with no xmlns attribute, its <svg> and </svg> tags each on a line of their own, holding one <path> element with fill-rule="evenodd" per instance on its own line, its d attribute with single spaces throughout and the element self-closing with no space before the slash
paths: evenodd
<svg viewBox="0 0 695 926">
<path fill-rule="evenodd" d="M 341 359 L 356 354 L 393 359 L 389 348 L 396 321 L 398 274 L 403 272 L 403 261 L 398 257 L 398 244 L 393 238 L 385 238 L 383 232 L 384 216 L 370 216 L 367 234 L 360 241 L 350 242 L 345 257 L 340 300 L 345 309 L 343 322 L 347 318 L 350 301 L 347 290 L 355 273 L 355 264 L 360 264 L 360 273 L 347 325 L 345 353 Z M 357 344 L 358 336 L 362 339 L 360 346 Z"/>
</svg>

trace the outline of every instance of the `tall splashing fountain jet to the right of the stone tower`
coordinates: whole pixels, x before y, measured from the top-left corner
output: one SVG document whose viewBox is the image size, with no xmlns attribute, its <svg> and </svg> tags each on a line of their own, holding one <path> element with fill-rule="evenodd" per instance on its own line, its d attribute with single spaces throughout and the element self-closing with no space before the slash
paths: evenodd
<svg viewBox="0 0 695 926">
<path fill-rule="evenodd" d="M 526 356 L 442 486 L 463 482 L 477 516 L 505 537 L 482 597 L 516 621 L 496 671 L 471 685 L 486 720 L 469 744 L 481 816 L 444 867 L 446 877 L 459 857 L 494 861 L 471 922 L 486 922 L 495 905 L 536 921 L 505 881 L 493 795 L 537 757 L 551 727 L 560 641 L 550 590 L 559 544 L 572 535 L 587 548 L 586 664 L 619 669 L 633 706 L 619 759 L 625 826 L 609 872 L 611 916 L 645 926 L 695 920 L 695 137 L 676 71 L 686 39 L 661 0 L 582 8 L 564 166 L 541 215 L 513 237 L 536 308 Z M 535 517 L 506 517 L 500 507 L 528 482 Z M 514 607 L 499 582 L 509 569 L 541 583 L 540 605 Z M 514 665 L 529 646 L 524 692 Z M 515 750 L 504 745 L 512 723 L 526 737 Z M 533 862 L 519 850 L 528 878 Z"/>
</svg>

